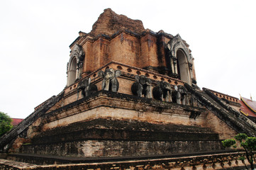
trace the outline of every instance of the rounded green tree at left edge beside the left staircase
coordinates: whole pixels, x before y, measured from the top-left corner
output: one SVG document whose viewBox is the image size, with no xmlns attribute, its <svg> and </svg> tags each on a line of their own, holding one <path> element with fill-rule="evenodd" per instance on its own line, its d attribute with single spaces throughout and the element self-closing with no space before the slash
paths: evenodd
<svg viewBox="0 0 256 170">
<path fill-rule="evenodd" d="M 11 130 L 11 118 L 4 112 L 0 112 L 0 137 Z"/>
</svg>

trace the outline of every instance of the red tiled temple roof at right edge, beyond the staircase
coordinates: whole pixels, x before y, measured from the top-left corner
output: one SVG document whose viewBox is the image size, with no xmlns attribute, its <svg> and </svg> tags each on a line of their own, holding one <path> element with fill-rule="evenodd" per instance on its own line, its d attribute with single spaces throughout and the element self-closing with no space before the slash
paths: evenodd
<svg viewBox="0 0 256 170">
<path fill-rule="evenodd" d="M 241 97 L 239 103 L 241 104 L 241 113 L 247 116 L 256 117 L 256 101 Z"/>
</svg>

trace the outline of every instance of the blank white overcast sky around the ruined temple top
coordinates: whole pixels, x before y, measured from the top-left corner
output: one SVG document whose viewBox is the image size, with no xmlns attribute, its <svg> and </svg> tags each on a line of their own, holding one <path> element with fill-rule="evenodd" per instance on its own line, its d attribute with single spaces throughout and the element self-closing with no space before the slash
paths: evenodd
<svg viewBox="0 0 256 170">
<path fill-rule="evenodd" d="M 256 1 L 0 1 L 0 111 L 26 118 L 65 88 L 69 45 L 111 8 L 186 40 L 199 87 L 256 100 Z"/>
</svg>

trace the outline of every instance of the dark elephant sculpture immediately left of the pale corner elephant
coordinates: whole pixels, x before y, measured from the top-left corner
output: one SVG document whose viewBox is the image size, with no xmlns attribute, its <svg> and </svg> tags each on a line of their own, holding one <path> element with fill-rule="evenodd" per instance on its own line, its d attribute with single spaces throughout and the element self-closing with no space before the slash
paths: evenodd
<svg viewBox="0 0 256 170">
<path fill-rule="evenodd" d="M 91 84 L 91 78 L 89 77 L 79 82 L 77 86 L 77 99 L 79 97 L 79 90 L 82 90 L 82 96 L 86 97 L 89 96 L 92 91 L 98 91 L 98 88 L 95 84 Z"/>
</svg>

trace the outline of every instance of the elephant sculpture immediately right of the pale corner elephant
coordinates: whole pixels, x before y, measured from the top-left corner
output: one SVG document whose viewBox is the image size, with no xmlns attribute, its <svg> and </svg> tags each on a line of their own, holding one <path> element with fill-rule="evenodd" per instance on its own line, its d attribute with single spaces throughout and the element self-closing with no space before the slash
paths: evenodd
<svg viewBox="0 0 256 170">
<path fill-rule="evenodd" d="M 152 98 L 151 95 L 151 80 L 145 76 L 135 76 L 136 82 L 133 83 L 131 90 L 135 96 Z"/>
</svg>

